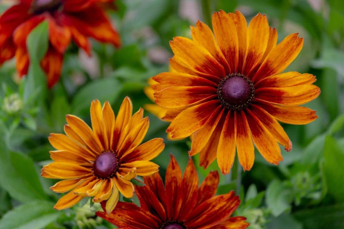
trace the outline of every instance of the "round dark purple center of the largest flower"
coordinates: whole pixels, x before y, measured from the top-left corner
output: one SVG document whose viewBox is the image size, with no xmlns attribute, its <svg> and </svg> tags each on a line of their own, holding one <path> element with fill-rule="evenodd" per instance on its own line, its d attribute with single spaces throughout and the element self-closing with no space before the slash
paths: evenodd
<svg viewBox="0 0 344 229">
<path fill-rule="evenodd" d="M 252 81 L 239 73 L 232 73 L 221 80 L 217 88 L 217 97 L 229 110 L 243 110 L 255 98 Z"/>
</svg>

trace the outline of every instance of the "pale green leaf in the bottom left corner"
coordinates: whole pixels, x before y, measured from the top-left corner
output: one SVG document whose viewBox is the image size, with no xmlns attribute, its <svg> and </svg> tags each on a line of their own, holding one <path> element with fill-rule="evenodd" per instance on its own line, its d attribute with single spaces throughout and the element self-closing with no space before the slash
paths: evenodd
<svg viewBox="0 0 344 229">
<path fill-rule="evenodd" d="M 0 220 L 1 229 L 42 229 L 61 215 L 54 203 L 32 201 L 6 213 Z"/>
</svg>

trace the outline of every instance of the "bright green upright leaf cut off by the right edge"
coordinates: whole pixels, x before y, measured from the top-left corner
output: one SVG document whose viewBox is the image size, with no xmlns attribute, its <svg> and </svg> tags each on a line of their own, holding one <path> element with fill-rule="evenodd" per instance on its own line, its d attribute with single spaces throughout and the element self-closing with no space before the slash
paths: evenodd
<svg viewBox="0 0 344 229">
<path fill-rule="evenodd" d="M 324 176 L 328 188 L 336 201 L 344 202 L 344 186 L 343 186 L 343 161 L 344 150 L 338 145 L 336 140 L 331 136 L 326 136 L 324 148 Z"/>
</svg>

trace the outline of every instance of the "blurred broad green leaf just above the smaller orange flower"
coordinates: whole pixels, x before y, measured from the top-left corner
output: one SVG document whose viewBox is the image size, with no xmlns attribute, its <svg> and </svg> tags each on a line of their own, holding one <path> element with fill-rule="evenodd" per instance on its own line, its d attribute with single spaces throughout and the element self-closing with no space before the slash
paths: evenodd
<svg viewBox="0 0 344 229">
<path fill-rule="evenodd" d="M 72 113 L 78 115 L 89 110 L 91 101 L 94 99 L 101 102 L 114 102 L 121 88 L 122 85 L 115 79 L 100 79 L 88 83 L 75 94 L 72 102 L 72 107 L 74 107 Z"/>
</svg>

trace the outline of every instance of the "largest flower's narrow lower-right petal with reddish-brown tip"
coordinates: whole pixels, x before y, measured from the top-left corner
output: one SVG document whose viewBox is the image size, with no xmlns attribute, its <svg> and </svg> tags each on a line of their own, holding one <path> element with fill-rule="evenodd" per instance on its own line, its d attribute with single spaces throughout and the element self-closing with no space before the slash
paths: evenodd
<svg viewBox="0 0 344 229">
<path fill-rule="evenodd" d="M 257 116 L 262 124 L 269 130 L 272 136 L 285 147 L 287 151 L 291 150 L 291 141 L 284 131 L 283 127 L 272 117 L 268 112 L 263 110 L 261 107 L 251 104 L 251 111 Z"/>
</svg>

